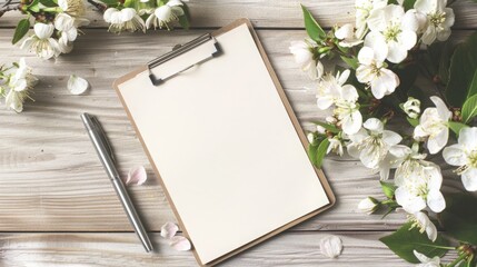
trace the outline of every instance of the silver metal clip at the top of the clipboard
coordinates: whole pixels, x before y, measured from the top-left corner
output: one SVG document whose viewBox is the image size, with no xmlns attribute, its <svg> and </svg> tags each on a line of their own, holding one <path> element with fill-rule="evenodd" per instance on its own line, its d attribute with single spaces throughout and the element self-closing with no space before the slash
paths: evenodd
<svg viewBox="0 0 477 267">
<path fill-rule="evenodd" d="M 162 65 L 162 63 L 165 63 L 165 62 L 167 62 L 167 61 L 169 61 L 176 57 L 185 55 L 185 53 L 187 53 L 187 52 L 189 52 L 189 51 L 191 51 L 191 50 L 193 50 L 200 46 L 206 46 L 206 43 L 208 43 L 208 42 L 210 42 L 210 46 L 212 46 L 212 47 L 210 49 L 207 49 L 206 50 L 207 55 L 203 55 L 203 57 L 199 58 L 197 62 L 192 62 L 191 65 L 187 66 L 186 68 L 180 69 L 177 72 L 169 73 L 167 76 L 156 77 L 156 75 L 152 73 L 153 68 L 156 68 L 156 67 L 158 67 L 158 66 L 160 66 L 160 65 Z M 152 85 L 158 86 L 158 85 L 165 82 L 165 80 L 167 80 L 167 79 L 169 79 L 176 75 L 179 75 L 180 72 L 183 72 L 183 71 L 192 68 L 193 66 L 198 65 L 198 63 L 201 63 L 206 60 L 209 60 L 212 57 L 217 57 L 218 55 L 220 55 L 220 52 L 221 51 L 220 51 L 219 44 L 218 44 L 217 40 L 212 37 L 212 34 L 210 34 L 210 33 L 203 34 L 203 36 L 190 41 L 190 42 L 185 43 L 185 44 L 175 46 L 172 51 L 150 61 L 148 63 L 149 78 L 151 79 Z"/>
</svg>

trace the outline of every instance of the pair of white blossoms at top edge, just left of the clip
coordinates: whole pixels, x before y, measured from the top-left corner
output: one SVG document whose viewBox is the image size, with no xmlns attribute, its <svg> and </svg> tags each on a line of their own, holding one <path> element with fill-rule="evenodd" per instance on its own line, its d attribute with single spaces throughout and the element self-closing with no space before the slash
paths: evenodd
<svg viewBox="0 0 477 267">
<path fill-rule="evenodd" d="M 141 0 L 141 3 L 148 3 L 152 0 Z M 148 16 L 145 20 L 141 16 Z M 119 33 L 121 31 L 142 31 L 146 29 L 170 29 L 172 21 L 178 21 L 179 17 L 185 16 L 183 3 L 180 0 L 169 0 L 158 8 L 143 8 L 137 11 L 133 8 L 109 8 L 103 14 L 106 22 L 110 23 L 109 31 Z"/>
</svg>

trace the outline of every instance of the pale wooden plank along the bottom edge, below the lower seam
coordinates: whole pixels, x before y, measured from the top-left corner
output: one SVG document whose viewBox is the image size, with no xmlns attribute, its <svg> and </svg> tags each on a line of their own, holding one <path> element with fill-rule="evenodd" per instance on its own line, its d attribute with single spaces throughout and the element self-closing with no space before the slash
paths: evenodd
<svg viewBox="0 0 477 267">
<path fill-rule="evenodd" d="M 378 238 L 387 233 L 334 233 L 344 245 L 342 255 L 321 255 L 326 233 L 285 233 L 220 266 L 413 266 L 397 258 Z M 151 235 L 156 251 L 146 254 L 135 234 L 3 234 L 1 266 L 197 266 L 190 251 L 176 251 L 159 234 Z M 366 257 L 364 257 L 366 255 Z M 455 257 L 450 254 L 445 260 Z"/>
</svg>

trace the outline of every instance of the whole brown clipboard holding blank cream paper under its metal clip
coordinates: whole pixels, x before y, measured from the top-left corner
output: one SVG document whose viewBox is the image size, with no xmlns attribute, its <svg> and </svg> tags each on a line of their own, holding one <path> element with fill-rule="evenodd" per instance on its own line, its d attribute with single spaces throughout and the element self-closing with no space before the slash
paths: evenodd
<svg viewBox="0 0 477 267">
<path fill-rule="evenodd" d="M 113 88 L 200 266 L 336 202 L 248 19 L 178 46 Z"/>
</svg>

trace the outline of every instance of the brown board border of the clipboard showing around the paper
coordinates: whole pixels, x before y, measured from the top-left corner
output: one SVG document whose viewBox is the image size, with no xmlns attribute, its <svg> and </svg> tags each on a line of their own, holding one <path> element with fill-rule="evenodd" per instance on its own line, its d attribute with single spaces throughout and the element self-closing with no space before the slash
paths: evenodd
<svg viewBox="0 0 477 267">
<path fill-rule="evenodd" d="M 274 83 L 275 83 L 275 87 L 277 89 L 277 92 L 280 96 L 280 99 L 281 99 L 281 101 L 284 103 L 285 109 L 287 110 L 288 117 L 290 118 L 290 120 L 291 120 L 291 122 L 292 122 L 292 125 L 295 127 L 295 130 L 296 130 L 298 137 L 300 138 L 300 141 L 301 141 L 302 146 L 304 146 L 304 150 L 306 152 L 307 147 L 309 145 L 308 139 L 307 139 L 304 130 L 301 129 L 301 126 L 300 126 L 300 123 L 299 123 L 299 121 L 298 121 L 298 119 L 297 119 L 297 117 L 296 117 L 296 115 L 295 115 L 295 112 L 294 112 L 294 110 L 291 108 L 290 102 L 288 101 L 288 98 L 287 98 L 287 96 L 285 93 L 285 90 L 281 87 L 281 83 L 280 83 L 277 75 L 275 73 L 275 70 L 274 70 L 274 68 L 272 68 L 272 66 L 270 63 L 270 60 L 268 59 L 268 56 L 265 52 L 265 49 L 264 49 L 264 47 L 262 47 L 262 44 L 260 42 L 260 39 L 258 38 L 257 32 L 254 30 L 254 26 L 251 24 L 250 20 L 246 19 L 246 18 L 238 19 L 238 20 L 233 21 L 232 23 L 230 23 L 230 24 L 228 24 L 228 26 L 226 26 L 223 28 L 220 28 L 220 29 L 213 31 L 212 36 L 215 36 L 215 37 L 220 36 L 221 33 L 230 31 L 230 30 L 232 30 L 232 29 L 235 29 L 235 28 L 237 28 L 237 27 L 239 27 L 241 24 L 247 24 L 248 29 L 250 30 L 250 33 L 254 37 L 254 40 L 255 40 L 255 43 L 256 43 L 258 50 L 260 51 L 261 58 L 262 58 L 262 60 L 264 60 L 264 62 L 265 62 L 265 65 L 267 67 L 267 70 L 269 72 L 271 79 L 274 80 Z M 185 227 L 185 225 L 182 222 L 182 219 L 180 218 L 179 212 L 176 209 L 176 206 L 173 205 L 173 201 L 172 201 L 172 199 L 171 199 L 171 197 L 169 195 L 169 191 L 166 188 L 166 185 L 163 184 L 163 180 L 162 180 L 162 178 L 161 178 L 161 176 L 159 174 L 159 170 L 156 167 L 155 162 L 152 161 L 152 157 L 149 154 L 149 150 L 148 150 L 148 148 L 145 145 L 142 136 L 141 136 L 140 131 L 138 130 L 138 127 L 136 126 L 135 120 L 132 119 L 132 116 L 131 116 L 131 113 L 130 113 L 130 111 L 128 109 L 128 106 L 126 105 L 126 101 L 122 98 L 121 91 L 119 90 L 119 85 L 126 82 L 127 80 L 130 80 L 130 79 L 135 78 L 137 75 L 146 71 L 147 69 L 148 68 L 145 66 L 145 67 L 138 68 L 137 70 L 133 70 L 132 72 L 130 72 L 128 75 L 125 75 L 125 76 L 118 78 L 112 83 L 112 87 L 115 88 L 115 90 L 116 90 L 116 92 L 117 92 L 117 95 L 118 95 L 118 97 L 119 97 L 119 99 L 120 99 L 120 101 L 122 103 L 122 107 L 126 110 L 126 113 L 127 113 L 127 116 L 129 118 L 129 121 L 131 122 L 132 127 L 136 130 L 136 134 L 139 137 L 141 146 L 143 148 L 143 150 L 146 151 L 146 155 L 148 156 L 148 159 L 149 159 L 149 161 L 150 161 L 150 164 L 151 164 L 151 166 L 152 166 L 152 168 L 153 168 L 153 170 L 156 172 L 156 176 L 159 178 L 159 182 L 160 182 L 160 185 L 162 187 L 162 190 L 165 191 L 165 195 L 167 197 L 167 200 L 169 201 L 169 205 L 171 206 L 172 211 L 173 211 L 173 214 L 175 214 L 175 216 L 176 216 L 176 218 L 178 220 L 180 229 L 182 229 L 183 235 L 189 238 L 189 235 L 188 235 L 187 229 L 186 229 L 186 227 Z M 310 162 L 310 165 L 312 165 L 312 164 Z M 291 228 L 294 226 L 296 226 L 296 225 L 298 225 L 298 224 L 300 224 L 300 222 L 304 222 L 305 220 L 310 219 L 311 217 L 315 217 L 318 214 L 321 214 L 322 211 L 329 209 L 330 207 L 332 207 L 336 204 L 336 197 L 335 197 L 335 195 L 334 195 L 334 192 L 331 190 L 331 187 L 329 186 L 329 182 L 326 179 L 325 174 L 322 172 L 322 170 L 321 169 L 317 169 L 315 166 L 314 166 L 314 169 L 315 169 L 315 172 L 317 174 L 317 177 L 320 180 L 321 186 L 324 187 L 324 190 L 325 190 L 325 192 L 326 192 L 326 195 L 328 197 L 328 200 L 329 200 L 328 205 L 326 205 L 326 206 L 324 206 L 324 207 L 321 207 L 321 208 L 319 208 L 319 209 L 317 209 L 315 211 L 311 211 L 311 212 L 309 212 L 307 215 L 304 215 L 304 216 L 301 216 L 301 217 L 299 217 L 299 218 L 297 218 L 297 219 L 295 219 L 295 220 L 292 220 L 292 221 L 284 225 L 284 226 L 281 226 L 281 227 L 279 227 L 279 228 L 277 228 L 277 229 L 275 229 L 275 230 L 272 230 L 272 231 L 270 231 L 270 233 L 268 233 L 268 234 L 266 234 L 266 235 L 264 235 L 264 236 L 261 236 L 261 237 L 259 237 L 259 238 L 257 238 L 257 239 L 255 239 L 255 240 L 252 240 L 252 241 L 250 241 L 250 243 L 248 243 L 248 244 L 246 244 L 246 245 L 244 245 L 244 246 L 241 246 L 241 247 L 239 247 L 239 248 L 237 248 L 237 249 L 235 249 L 235 250 L 232 250 L 232 251 L 230 251 L 230 253 L 228 253 L 228 254 L 226 254 L 226 255 L 223 255 L 223 256 L 221 256 L 221 257 L 219 257 L 219 258 L 217 258 L 215 260 L 212 260 L 212 261 L 207 263 L 207 264 L 203 264 L 200 260 L 197 251 L 195 249 L 192 249 L 192 253 L 193 253 L 193 256 L 195 256 L 197 263 L 200 266 L 206 266 L 206 267 L 215 266 L 215 265 L 217 265 L 217 264 L 219 264 L 219 263 L 221 263 L 221 261 L 223 261 L 223 260 L 226 260 L 226 259 L 228 259 L 228 258 L 230 258 L 230 257 L 232 257 L 232 256 L 235 256 L 237 254 L 240 254 L 244 250 L 247 250 L 248 248 L 254 247 L 254 246 L 256 246 L 256 245 L 258 245 L 258 244 L 260 244 L 260 243 L 262 243 L 262 241 L 265 241 L 265 240 L 267 240 L 267 239 L 269 239 L 269 238 L 271 238 L 271 237 L 274 237 L 274 236 L 276 236 L 276 235 L 278 235 L 278 234 L 280 234 L 280 233 L 282 233 L 282 231 L 285 231 L 285 230 L 287 230 L 287 229 L 289 229 L 289 228 Z"/>
</svg>

